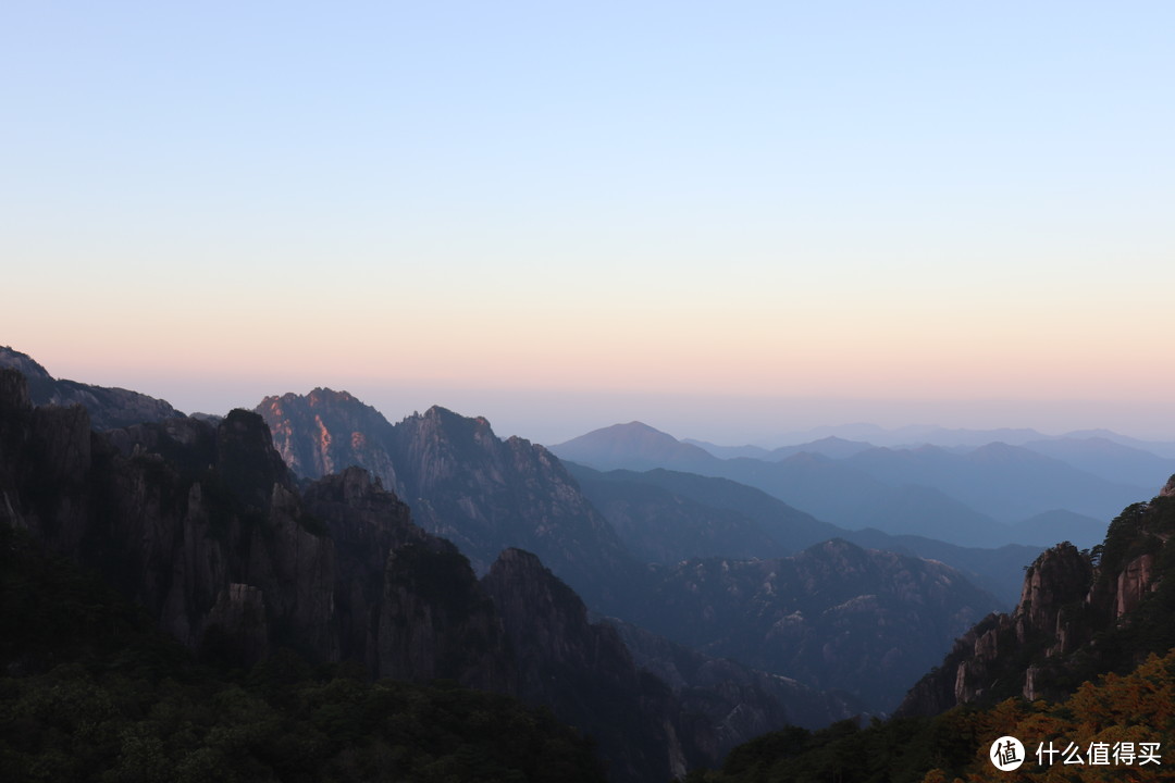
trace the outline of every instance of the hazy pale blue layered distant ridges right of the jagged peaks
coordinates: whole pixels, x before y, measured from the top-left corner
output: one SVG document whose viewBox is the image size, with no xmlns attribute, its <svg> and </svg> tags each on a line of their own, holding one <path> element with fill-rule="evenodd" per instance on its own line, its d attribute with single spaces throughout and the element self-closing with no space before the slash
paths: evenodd
<svg viewBox="0 0 1175 783">
<path fill-rule="evenodd" d="M 640 450 L 625 458 L 632 444 Z M 709 459 L 703 458 L 683 446 L 689 444 L 632 423 L 551 450 L 597 470 L 657 466 L 727 478 L 845 528 L 875 527 L 971 547 L 1036 544 L 1038 536 L 1022 534 L 1033 526 L 1021 529 L 1020 522 L 1061 508 L 1107 519 L 1144 492 L 1002 443 L 955 452 L 939 446 L 877 448 L 830 437 L 811 448 L 728 459 L 709 452 Z M 1092 546 L 1100 535 L 1082 525 L 1067 538 Z"/>
</svg>

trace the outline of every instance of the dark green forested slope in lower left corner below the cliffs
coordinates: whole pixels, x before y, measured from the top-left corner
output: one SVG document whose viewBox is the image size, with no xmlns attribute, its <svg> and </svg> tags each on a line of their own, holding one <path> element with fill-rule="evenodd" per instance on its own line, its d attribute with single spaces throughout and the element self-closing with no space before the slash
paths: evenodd
<svg viewBox="0 0 1175 783">
<path fill-rule="evenodd" d="M 0 526 L 0 779 L 603 781 L 591 744 L 511 698 L 315 669 L 200 667 L 96 578 Z"/>
</svg>

